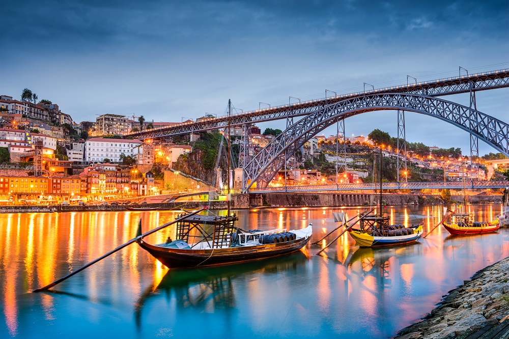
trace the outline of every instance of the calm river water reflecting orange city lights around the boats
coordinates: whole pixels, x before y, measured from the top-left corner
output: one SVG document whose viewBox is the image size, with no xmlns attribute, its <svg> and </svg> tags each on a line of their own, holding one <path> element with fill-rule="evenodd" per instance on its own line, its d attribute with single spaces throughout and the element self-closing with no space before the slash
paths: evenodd
<svg viewBox="0 0 509 339">
<path fill-rule="evenodd" d="M 472 206 L 477 220 L 500 205 Z M 339 208 L 237 211 L 245 229 L 302 228 L 314 239 L 336 227 Z M 345 208 L 354 216 L 357 208 Z M 441 217 L 441 207 L 394 207 L 394 223 Z M 509 230 L 450 237 L 441 227 L 409 246 L 359 249 L 348 234 L 314 256 L 167 270 L 136 244 L 78 273 L 54 292 L 28 293 L 176 213 L 0 215 L 0 337 L 388 337 L 429 312 L 475 271 L 509 255 Z M 337 234 L 337 233 L 336 233 Z M 175 229 L 151 235 L 163 242 Z M 314 240 L 313 240 L 314 241 Z"/>
</svg>

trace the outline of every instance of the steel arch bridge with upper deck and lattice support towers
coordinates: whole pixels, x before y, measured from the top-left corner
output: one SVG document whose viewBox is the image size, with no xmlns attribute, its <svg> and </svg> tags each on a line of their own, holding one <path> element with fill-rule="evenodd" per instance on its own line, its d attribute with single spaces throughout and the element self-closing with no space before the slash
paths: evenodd
<svg viewBox="0 0 509 339">
<path fill-rule="evenodd" d="M 461 71 L 460 67 L 460 71 Z M 463 69 L 464 70 L 464 69 Z M 466 71 L 466 70 L 465 70 Z M 484 114 L 477 109 L 475 93 L 509 87 L 509 69 L 460 75 L 432 81 L 407 83 L 370 91 L 335 95 L 321 99 L 309 100 L 257 109 L 241 114 L 231 114 L 217 118 L 204 118 L 196 122 L 177 124 L 170 127 L 145 130 L 126 135 L 140 139 L 163 138 L 167 136 L 189 134 L 209 130 L 223 129 L 228 126 L 243 126 L 244 154 L 239 167 L 243 168 L 242 191 L 252 192 L 251 186 L 256 183 L 256 192 L 272 191 L 268 184 L 279 168 L 287 165 L 288 160 L 309 139 L 336 124 L 337 132 L 345 137 L 345 119 L 365 112 L 397 110 L 398 111 L 398 174 L 406 170 L 405 111 L 427 115 L 440 119 L 461 128 L 470 134 L 471 159 L 478 158 L 478 140 L 483 140 L 502 154 L 509 156 L 509 125 L 499 119 Z M 326 91 L 327 93 L 327 91 Z M 438 97 L 469 93 L 470 104 L 464 106 Z M 294 123 L 294 118 L 301 118 Z M 287 129 L 274 138 L 264 149 L 252 154 L 246 147 L 249 144 L 248 128 L 250 124 L 272 120 L 287 120 Z M 340 129 L 341 126 L 341 129 Z M 401 141 L 400 141 L 401 140 Z M 343 140 L 344 142 L 346 140 Z M 338 141 L 336 140 L 336 147 Z M 346 149 L 344 149 L 346 153 Z M 286 168 L 287 166 L 285 166 Z M 345 163 L 346 168 L 346 163 Z M 336 170 L 337 171 L 337 170 Z M 399 181 L 399 177 L 398 177 Z M 424 184 L 424 183 L 423 183 Z M 425 188 L 444 188 L 446 184 Z M 472 184 L 473 185 L 473 184 Z M 338 190 L 337 185 L 333 185 Z M 314 187 L 294 186 L 295 191 L 315 190 Z M 356 188 L 353 184 L 345 189 Z M 359 186 L 364 187 L 364 186 Z M 369 184 L 368 186 L 369 187 Z M 505 187 L 505 186 L 504 186 Z M 447 187 L 445 187 L 447 188 Z M 460 187 L 461 188 L 461 187 Z M 473 187 L 471 187 L 473 188 Z M 480 188 L 480 187 L 479 187 Z M 484 187 L 487 188 L 487 187 Z M 288 191 L 288 187 L 286 190 Z M 406 189 L 388 187 L 386 189 Z M 320 189 L 323 190 L 323 189 Z"/>
</svg>

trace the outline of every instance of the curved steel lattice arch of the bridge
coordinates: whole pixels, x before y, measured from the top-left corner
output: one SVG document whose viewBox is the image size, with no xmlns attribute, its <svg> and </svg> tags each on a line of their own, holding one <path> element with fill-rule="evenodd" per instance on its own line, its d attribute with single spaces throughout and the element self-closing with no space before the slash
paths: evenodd
<svg viewBox="0 0 509 339">
<path fill-rule="evenodd" d="M 336 102 L 317 109 L 286 129 L 254 156 L 244 168 L 243 191 L 254 181 L 265 187 L 285 161 L 285 151 L 304 145 L 307 140 L 336 122 L 364 112 L 401 109 L 435 117 L 451 123 L 509 156 L 509 125 L 473 108 L 435 97 L 382 93 Z"/>
</svg>

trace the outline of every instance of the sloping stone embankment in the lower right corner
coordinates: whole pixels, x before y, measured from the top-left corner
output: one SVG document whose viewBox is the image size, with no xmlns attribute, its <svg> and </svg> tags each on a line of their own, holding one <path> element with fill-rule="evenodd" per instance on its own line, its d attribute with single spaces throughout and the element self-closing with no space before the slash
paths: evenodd
<svg viewBox="0 0 509 339">
<path fill-rule="evenodd" d="M 509 322 L 509 258 L 477 272 L 465 285 L 449 291 L 424 320 L 395 338 L 466 337 L 487 326 Z M 509 335 L 509 333 L 507 334 Z"/>
</svg>

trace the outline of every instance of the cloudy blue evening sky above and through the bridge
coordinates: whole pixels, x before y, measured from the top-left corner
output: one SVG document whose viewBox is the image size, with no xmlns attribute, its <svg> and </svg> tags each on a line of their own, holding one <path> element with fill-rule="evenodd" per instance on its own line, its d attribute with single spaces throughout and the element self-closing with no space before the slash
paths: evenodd
<svg viewBox="0 0 509 339">
<path fill-rule="evenodd" d="M 0 0 L 0 92 L 24 88 L 76 122 L 143 115 L 180 122 L 288 97 L 321 98 L 407 81 L 509 68 L 509 1 Z M 328 93 L 330 95 L 330 93 Z M 468 105 L 468 94 L 444 97 Z M 477 109 L 509 121 L 509 89 Z M 468 133 L 408 112 L 410 142 L 461 147 Z M 259 125 L 284 129 L 285 122 Z M 347 135 L 395 136 L 397 114 L 345 122 Z M 325 130 L 333 134 L 335 128 Z M 479 142 L 479 153 L 494 149 Z"/>
</svg>

